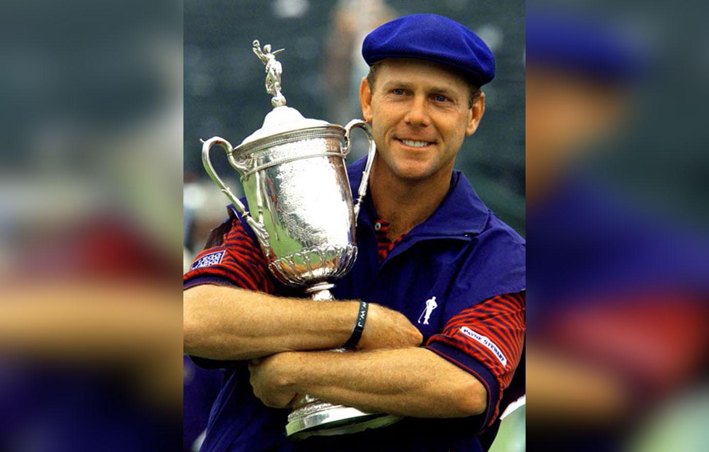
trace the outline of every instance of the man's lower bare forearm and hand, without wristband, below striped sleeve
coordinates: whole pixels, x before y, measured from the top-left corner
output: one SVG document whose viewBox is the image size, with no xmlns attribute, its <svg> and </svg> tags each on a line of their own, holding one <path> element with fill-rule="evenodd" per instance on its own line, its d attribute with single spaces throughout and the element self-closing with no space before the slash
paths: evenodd
<svg viewBox="0 0 709 452">
<path fill-rule="evenodd" d="M 466 417 L 487 407 L 479 380 L 417 347 L 283 353 L 250 370 L 255 395 L 270 407 L 286 407 L 296 394 L 411 417 Z"/>
</svg>

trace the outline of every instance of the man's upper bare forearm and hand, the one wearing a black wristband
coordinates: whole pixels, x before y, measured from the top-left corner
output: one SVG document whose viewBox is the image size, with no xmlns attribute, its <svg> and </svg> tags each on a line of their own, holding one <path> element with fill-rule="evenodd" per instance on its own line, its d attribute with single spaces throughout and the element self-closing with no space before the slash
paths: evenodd
<svg viewBox="0 0 709 452">
<path fill-rule="evenodd" d="M 359 302 L 281 298 L 203 284 L 184 291 L 183 305 L 186 354 L 239 360 L 342 346 L 352 334 Z M 421 340 L 401 313 L 370 304 L 360 348 L 416 346 Z"/>
</svg>

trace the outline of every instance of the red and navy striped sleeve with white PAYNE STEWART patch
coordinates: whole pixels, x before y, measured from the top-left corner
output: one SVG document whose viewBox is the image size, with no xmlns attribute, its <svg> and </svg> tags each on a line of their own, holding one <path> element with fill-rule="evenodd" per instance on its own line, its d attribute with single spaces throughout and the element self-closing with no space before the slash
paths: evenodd
<svg viewBox="0 0 709 452">
<path fill-rule="evenodd" d="M 452 317 L 426 348 L 474 375 L 485 386 L 482 429 L 500 414 L 503 391 L 520 362 L 525 340 L 525 292 L 489 298 Z"/>
</svg>

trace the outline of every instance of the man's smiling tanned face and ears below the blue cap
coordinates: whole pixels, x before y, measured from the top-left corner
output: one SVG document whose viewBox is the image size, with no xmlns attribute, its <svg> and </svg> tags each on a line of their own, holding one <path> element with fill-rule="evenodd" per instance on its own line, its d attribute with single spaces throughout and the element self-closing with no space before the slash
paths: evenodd
<svg viewBox="0 0 709 452">
<path fill-rule="evenodd" d="M 373 91 L 359 90 L 364 119 L 372 122 L 382 167 L 398 179 L 450 174 L 464 137 L 484 112 L 484 95 L 469 106 L 469 86 L 455 72 L 424 60 L 385 60 Z"/>
</svg>

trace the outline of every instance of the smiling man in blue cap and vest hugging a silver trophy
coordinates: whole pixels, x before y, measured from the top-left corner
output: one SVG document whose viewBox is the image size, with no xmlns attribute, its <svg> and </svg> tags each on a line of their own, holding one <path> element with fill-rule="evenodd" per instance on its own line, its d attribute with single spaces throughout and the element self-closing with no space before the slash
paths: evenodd
<svg viewBox="0 0 709 452">
<path fill-rule="evenodd" d="M 378 154 L 359 214 L 359 256 L 334 289 L 350 301 L 266 295 L 287 292 L 233 209 L 185 275 L 185 351 L 230 366 L 203 450 L 489 446 L 493 434 L 479 434 L 494 431 L 523 348 L 524 242 L 453 165 L 484 113 L 479 86 L 494 76 L 493 56 L 470 30 L 432 14 L 376 28 L 362 55 L 372 69 L 359 97 Z M 363 167 L 350 167 L 353 187 Z M 419 324 L 434 296 L 428 324 Z M 357 351 L 326 351 L 348 341 L 356 300 L 370 303 Z M 406 419 L 293 442 L 284 408 L 303 393 Z"/>
</svg>

